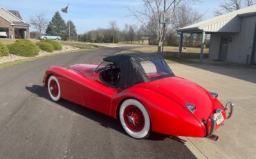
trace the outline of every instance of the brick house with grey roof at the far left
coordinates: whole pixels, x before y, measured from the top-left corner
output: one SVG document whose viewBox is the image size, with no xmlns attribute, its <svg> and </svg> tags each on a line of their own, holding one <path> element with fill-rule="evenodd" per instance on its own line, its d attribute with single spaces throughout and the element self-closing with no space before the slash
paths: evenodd
<svg viewBox="0 0 256 159">
<path fill-rule="evenodd" d="M 16 10 L 0 8 L 0 32 L 6 32 L 11 39 L 29 38 L 29 24 L 26 24 Z"/>
</svg>

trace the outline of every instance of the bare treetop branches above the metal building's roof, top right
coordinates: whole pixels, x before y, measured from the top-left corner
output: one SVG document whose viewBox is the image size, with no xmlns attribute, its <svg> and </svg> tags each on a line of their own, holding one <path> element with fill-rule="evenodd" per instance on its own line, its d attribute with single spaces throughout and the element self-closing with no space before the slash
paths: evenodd
<svg viewBox="0 0 256 159">
<path fill-rule="evenodd" d="M 224 0 L 220 3 L 219 8 L 215 10 L 214 13 L 215 15 L 223 15 L 227 12 L 252 6 L 253 4 L 255 4 L 255 0 Z"/>
</svg>

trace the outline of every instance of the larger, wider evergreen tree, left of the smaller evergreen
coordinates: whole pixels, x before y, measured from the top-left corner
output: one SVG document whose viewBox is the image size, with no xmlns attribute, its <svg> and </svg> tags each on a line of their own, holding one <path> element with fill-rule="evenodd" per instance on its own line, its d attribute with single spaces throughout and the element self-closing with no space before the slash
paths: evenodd
<svg viewBox="0 0 256 159">
<path fill-rule="evenodd" d="M 46 34 L 60 36 L 63 39 L 66 38 L 66 24 L 60 16 L 60 12 L 55 12 L 55 15 L 46 28 Z"/>
</svg>

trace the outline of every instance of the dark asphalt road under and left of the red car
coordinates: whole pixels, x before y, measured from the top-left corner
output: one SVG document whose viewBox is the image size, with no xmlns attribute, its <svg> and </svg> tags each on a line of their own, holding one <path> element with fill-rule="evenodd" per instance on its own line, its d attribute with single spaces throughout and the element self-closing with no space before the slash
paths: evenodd
<svg viewBox="0 0 256 159">
<path fill-rule="evenodd" d="M 130 138 L 120 123 L 71 102 L 50 100 L 48 66 L 100 62 L 125 48 L 104 48 L 39 59 L 0 71 L 0 158 L 195 158 L 165 135 Z"/>
</svg>

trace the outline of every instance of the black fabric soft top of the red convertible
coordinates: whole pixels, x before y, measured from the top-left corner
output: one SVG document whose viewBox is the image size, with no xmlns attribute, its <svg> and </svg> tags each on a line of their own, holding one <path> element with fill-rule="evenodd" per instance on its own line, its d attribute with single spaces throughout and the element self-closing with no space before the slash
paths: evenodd
<svg viewBox="0 0 256 159">
<path fill-rule="evenodd" d="M 119 66 L 121 74 L 118 82 L 118 88 L 127 88 L 134 84 L 149 82 L 155 79 L 174 75 L 170 67 L 167 66 L 163 57 L 154 53 L 119 54 L 105 57 L 103 60 Z M 152 62 L 156 66 L 157 72 L 163 73 L 163 75 L 158 77 L 148 77 L 141 64 L 141 62 L 146 61 Z"/>
</svg>

